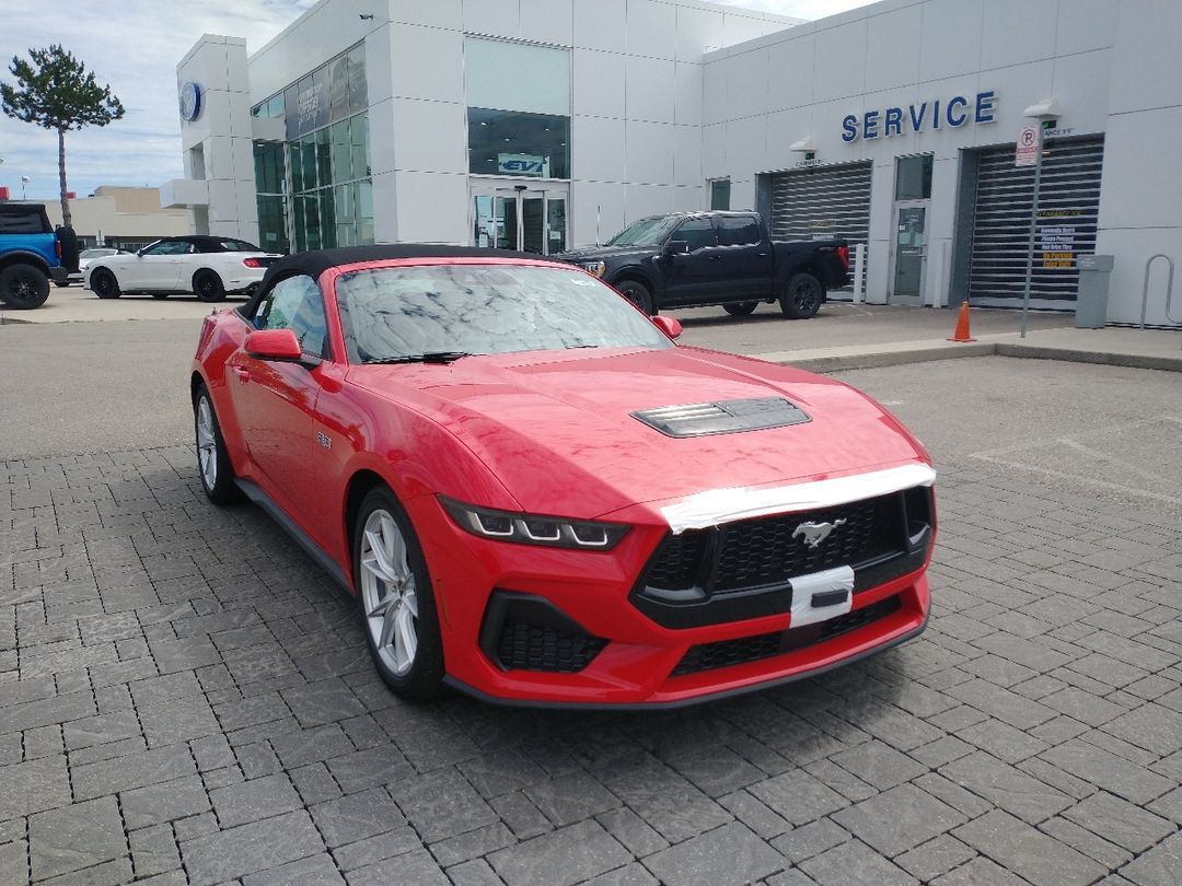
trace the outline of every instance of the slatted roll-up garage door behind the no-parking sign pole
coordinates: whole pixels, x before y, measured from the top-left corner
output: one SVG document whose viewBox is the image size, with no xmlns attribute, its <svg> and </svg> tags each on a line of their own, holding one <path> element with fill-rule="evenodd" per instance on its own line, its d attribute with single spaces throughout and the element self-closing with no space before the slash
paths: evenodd
<svg viewBox="0 0 1182 886">
<path fill-rule="evenodd" d="M 1026 285 L 1034 168 L 1014 165 L 1014 146 L 978 154 L 968 294 L 974 305 L 1015 307 Z M 1096 252 L 1102 136 L 1047 142 L 1043 155 L 1031 307 L 1070 308 L 1076 256 Z"/>
</svg>

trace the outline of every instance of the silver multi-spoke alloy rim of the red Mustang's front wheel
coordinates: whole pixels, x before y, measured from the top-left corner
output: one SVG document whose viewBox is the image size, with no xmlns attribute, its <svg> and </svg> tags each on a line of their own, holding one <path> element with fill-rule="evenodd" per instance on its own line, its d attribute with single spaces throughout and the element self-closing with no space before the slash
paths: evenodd
<svg viewBox="0 0 1182 886">
<path fill-rule="evenodd" d="M 374 647 L 396 676 L 405 676 L 418 650 L 418 598 L 407 539 L 390 512 L 365 520 L 361 542 L 362 605 Z"/>
</svg>

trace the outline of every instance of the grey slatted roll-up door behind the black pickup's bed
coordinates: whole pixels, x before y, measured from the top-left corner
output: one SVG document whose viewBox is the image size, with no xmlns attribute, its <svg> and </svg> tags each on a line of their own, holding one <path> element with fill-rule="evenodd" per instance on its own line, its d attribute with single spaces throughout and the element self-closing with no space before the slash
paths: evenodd
<svg viewBox="0 0 1182 886">
<path fill-rule="evenodd" d="M 773 240 L 870 240 L 871 163 L 844 163 L 772 176 Z"/>
</svg>

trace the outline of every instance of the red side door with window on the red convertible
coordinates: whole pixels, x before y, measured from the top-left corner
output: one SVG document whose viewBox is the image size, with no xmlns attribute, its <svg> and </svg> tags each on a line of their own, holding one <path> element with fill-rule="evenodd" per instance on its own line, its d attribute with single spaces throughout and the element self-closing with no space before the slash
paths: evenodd
<svg viewBox="0 0 1182 886">
<path fill-rule="evenodd" d="M 262 295 L 247 320 L 255 330 L 292 330 L 314 364 L 262 360 L 247 353 L 245 344 L 227 360 L 234 413 L 260 486 L 306 528 L 305 512 L 316 507 L 309 463 L 316 445 L 320 364 L 330 356 L 320 287 L 306 274 L 284 278 Z"/>
</svg>

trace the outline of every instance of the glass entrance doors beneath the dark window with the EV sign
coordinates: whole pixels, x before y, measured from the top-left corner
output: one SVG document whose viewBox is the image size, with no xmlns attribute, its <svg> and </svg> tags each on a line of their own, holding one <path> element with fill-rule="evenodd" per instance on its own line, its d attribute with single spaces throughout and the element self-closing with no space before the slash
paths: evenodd
<svg viewBox="0 0 1182 886">
<path fill-rule="evenodd" d="M 553 255 L 566 249 L 566 185 L 474 187 L 473 245 Z"/>
</svg>

